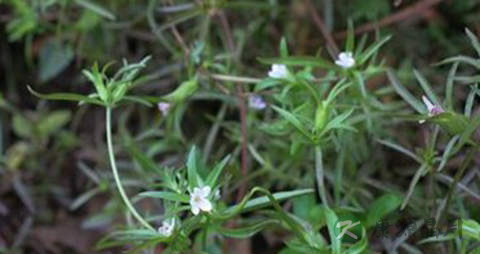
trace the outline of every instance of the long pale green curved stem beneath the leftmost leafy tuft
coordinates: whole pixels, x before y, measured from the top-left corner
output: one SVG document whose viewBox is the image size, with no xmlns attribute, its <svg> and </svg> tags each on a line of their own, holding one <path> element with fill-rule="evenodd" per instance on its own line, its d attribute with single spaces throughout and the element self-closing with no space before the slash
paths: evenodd
<svg viewBox="0 0 480 254">
<path fill-rule="evenodd" d="M 118 170 L 117 170 L 117 164 L 115 162 L 115 155 L 113 154 L 113 145 L 112 145 L 112 109 L 110 107 L 106 108 L 107 110 L 107 125 L 106 125 L 106 132 L 107 132 L 107 146 L 108 146 L 108 156 L 110 157 L 110 165 L 112 167 L 112 172 L 113 172 L 113 178 L 115 178 L 115 184 L 117 185 L 118 192 L 120 192 L 120 196 L 123 199 L 123 202 L 125 205 L 128 207 L 128 210 L 132 213 L 133 217 L 137 219 L 143 226 L 145 226 L 148 229 L 155 230 L 153 229 L 150 224 L 148 224 L 147 221 L 145 221 L 142 216 L 135 210 L 135 207 L 133 207 L 132 203 L 130 203 L 130 200 L 127 197 L 127 194 L 125 194 L 125 190 L 123 189 L 122 186 L 122 181 L 120 180 L 120 177 L 118 175 Z"/>
</svg>

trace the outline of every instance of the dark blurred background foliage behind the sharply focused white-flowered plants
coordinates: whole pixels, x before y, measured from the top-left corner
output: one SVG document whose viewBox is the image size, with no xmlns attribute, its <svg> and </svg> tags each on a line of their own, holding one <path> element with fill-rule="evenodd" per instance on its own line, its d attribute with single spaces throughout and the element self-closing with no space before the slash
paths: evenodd
<svg viewBox="0 0 480 254">
<path fill-rule="evenodd" d="M 122 219 L 120 198 L 112 194 L 103 111 L 92 105 L 46 103 L 32 96 L 27 85 L 44 93 L 89 94 L 92 90 L 82 69 L 94 62 L 115 61 L 118 66 L 123 58 L 134 62 L 146 55 L 152 59 L 134 94 L 163 95 L 200 73 L 200 91 L 178 105 L 171 118 L 163 118 L 156 108 L 133 105 L 117 111 L 119 167 L 126 186 L 142 188 L 158 178 L 155 172 L 145 170 L 142 156 L 154 158 L 162 166 L 181 166 L 191 144 L 205 144 L 204 163 L 227 153 L 238 157 L 241 130 L 236 97 L 230 84 L 219 83 L 211 75 L 265 77 L 269 66 L 257 58 L 277 56 L 282 37 L 291 55 L 328 57 L 315 15 L 337 45 L 343 45 L 349 19 L 357 38 L 369 34 L 372 42 L 376 33 L 393 35 L 381 51 L 386 65 L 396 69 L 404 84 L 415 82 L 412 70 L 416 68 L 441 90 L 449 66 L 432 64 L 450 56 L 474 54 L 464 29 L 480 33 L 479 13 L 480 0 L 0 0 L 0 250 L 93 253 L 96 241 Z M 222 28 L 225 20 L 231 27 L 233 52 L 225 46 L 232 43 Z M 478 71 L 462 68 L 461 73 Z M 367 83 L 371 89 L 382 86 L 390 86 L 384 75 Z M 463 105 L 467 94 L 455 89 L 455 101 Z M 414 92 L 419 95 L 419 91 Z M 473 112 L 478 113 L 478 107 Z M 248 119 L 250 167 L 255 170 L 242 179 L 240 163 L 234 163 L 229 169 L 236 184 L 232 189 L 248 181 L 277 190 L 313 186 L 308 167 L 314 162 L 305 159 L 311 156 L 258 128 L 257 121 L 271 119 L 271 114 L 249 112 Z M 412 150 L 424 146 L 429 135 L 426 127 L 419 130 L 399 121 L 385 126 L 377 131 L 395 136 Z M 215 143 L 209 144 L 206 137 L 212 131 L 219 134 Z M 350 174 L 344 183 L 345 195 L 351 198 L 355 192 L 365 191 L 366 196 L 382 197 L 392 207 L 399 206 L 399 197 L 413 175 L 412 161 L 378 143 L 372 145 L 366 136 L 345 133 L 342 140 L 349 139 L 352 142 L 337 144 L 347 147 L 341 156 L 349 158 L 344 160 L 349 165 L 336 165 L 343 162 L 335 161 L 337 154 L 324 155 L 326 164 L 345 167 L 345 174 Z M 462 158 L 453 159 L 451 168 Z M 478 157 L 474 161 L 476 171 L 467 176 L 477 182 L 472 188 L 478 193 L 480 161 Z M 358 170 L 368 172 L 362 174 L 367 180 L 355 184 Z M 452 181 L 447 173 L 442 179 Z M 385 192 L 393 194 L 384 197 Z M 233 193 L 224 195 L 235 200 Z M 339 199 L 339 194 L 335 195 Z M 413 196 L 413 208 L 423 210 L 424 200 L 417 196 L 421 195 Z M 463 202 L 460 200 L 453 202 Z M 368 199 L 355 202 L 368 203 Z M 477 221 L 479 202 L 473 199 L 461 205 L 470 215 L 476 214 Z M 315 209 L 306 209 L 313 206 L 309 203 L 315 200 L 296 199 L 294 213 L 318 220 L 321 216 Z M 371 226 L 376 218 L 366 221 Z M 236 242 L 232 248 L 246 251 L 242 253 L 277 253 L 282 246 L 277 238 L 283 237 L 278 234 L 265 233 L 250 242 Z M 371 245 L 381 249 L 380 243 Z M 434 249 L 420 248 L 426 252 Z"/>
</svg>

